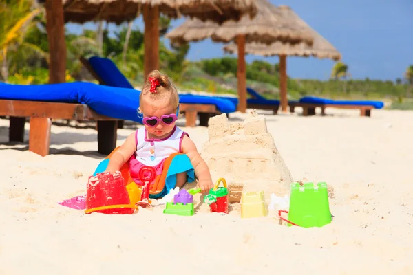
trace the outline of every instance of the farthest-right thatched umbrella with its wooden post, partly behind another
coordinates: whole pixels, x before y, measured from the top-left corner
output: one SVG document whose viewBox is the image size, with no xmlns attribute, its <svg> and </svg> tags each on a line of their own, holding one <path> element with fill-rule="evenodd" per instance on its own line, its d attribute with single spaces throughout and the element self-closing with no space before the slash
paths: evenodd
<svg viewBox="0 0 413 275">
<path fill-rule="evenodd" d="M 279 56 L 279 97 L 281 100 L 282 111 L 287 111 L 287 73 L 286 73 L 286 56 L 315 56 L 317 58 L 331 58 L 335 61 L 341 59 L 341 54 L 336 48 L 330 44 L 323 36 L 318 32 L 310 28 L 302 19 L 300 19 L 293 10 L 287 6 L 279 6 L 284 14 L 288 17 L 295 19 L 304 26 L 314 37 L 313 45 L 307 45 L 305 43 L 299 43 L 296 45 L 288 45 L 282 43 L 273 43 L 271 45 L 265 45 L 260 43 L 248 43 L 245 46 L 246 54 L 254 54 L 260 56 Z M 237 45 L 231 43 L 224 46 L 225 52 L 237 53 Z"/>
</svg>

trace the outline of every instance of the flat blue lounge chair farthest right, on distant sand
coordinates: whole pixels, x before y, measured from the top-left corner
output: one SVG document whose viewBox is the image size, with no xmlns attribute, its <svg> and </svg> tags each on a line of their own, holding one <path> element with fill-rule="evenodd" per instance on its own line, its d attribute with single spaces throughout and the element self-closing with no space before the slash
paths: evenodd
<svg viewBox="0 0 413 275">
<path fill-rule="evenodd" d="M 372 109 L 382 109 L 384 103 L 372 100 L 331 100 L 328 98 L 317 98 L 315 96 L 304 96 L 300 98 L 297 106 L 303 108 L 303 115 L 315 115 L 315 108 L 321 108 L 321 115 L 325 114 L 327 107 L 341 109 L 359 109 L 361 116 L 370 116 Z"/>
</svg>

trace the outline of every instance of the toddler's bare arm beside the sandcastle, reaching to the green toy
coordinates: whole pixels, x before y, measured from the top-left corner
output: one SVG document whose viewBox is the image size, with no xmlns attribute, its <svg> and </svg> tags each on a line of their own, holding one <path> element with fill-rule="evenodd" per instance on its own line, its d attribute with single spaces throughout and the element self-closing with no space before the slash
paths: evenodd
<svg viewBox="0 0 413 275">
<path fill-rule="evenodd" d="M 182 139 L 182 153 L 189 157 L 193 169 L 195 170 L 195 176 L 198 178 L 198 186 L 201 188 L 202 192 L 207 192 L 209 189 L 213 188 L 211 173 L 209 172 L 207 162 L 202 159 L 195 143 L 193 143 L 187 135 L 184 135 Z"/>
</svg>

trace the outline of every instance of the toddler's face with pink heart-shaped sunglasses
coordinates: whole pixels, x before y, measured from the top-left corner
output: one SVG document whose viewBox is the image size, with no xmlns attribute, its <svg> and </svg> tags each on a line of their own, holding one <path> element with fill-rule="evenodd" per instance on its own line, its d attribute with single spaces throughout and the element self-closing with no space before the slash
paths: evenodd
<svg viewBox="0 0 413 275">
<path fill-rule="evenodd" d="M 144 124 L 149 135 L 160 139 L 167 137 L 173 130 L 173 127 L 175 127 L 175 122 L 167 124 L 161 120 L 161 117 L 162 115 L 176 115 L 176 107 L 172 107 L 169 100 L 155 100 L 153 102 L 145 102 L 145 100 L 142 100 L 142 105 L 145 105 L 145 108 L 142 108 L 144 119 L 156 117 L 160 120 L 156 126 Z M 171 119 L 166 118 L 164 120 L 169 122 Z"/>
</svg>

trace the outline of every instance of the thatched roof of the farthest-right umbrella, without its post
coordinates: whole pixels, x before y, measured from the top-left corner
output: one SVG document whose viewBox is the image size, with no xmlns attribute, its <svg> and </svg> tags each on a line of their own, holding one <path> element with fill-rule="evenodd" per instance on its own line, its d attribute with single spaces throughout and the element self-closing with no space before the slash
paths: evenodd
<svg viewBox="0 0 413 275">
<path fill-rule="evenodd" d="M 299 43 L 296 45 L 288 45 L 279 42 L 275 42 L 271 45 L 264 45 L 262 43 L 247 43 L 245 45 L 246 54 L 254 54 L 257 56 L 315 56 L 317 58 L 331 58 L 335 61 L 341 59 L 341 54 L 337 49 L 331 45 L 323 36 L 318 32 L 310 28 L 302 19 L 300 19 L 293 10 L 287 6 L 279 6 L 281 10 L 288 17 L 294 18 L 295 21 L 300 22 L 314 37 L 314 43 L 312 46 L 306 45 L 305 43 Z M 224 51 L 229 53 L 237 54 L 237 45 L 235 43 L 230 43 L 229 45 L 224 45 Z"/>
</svg>

